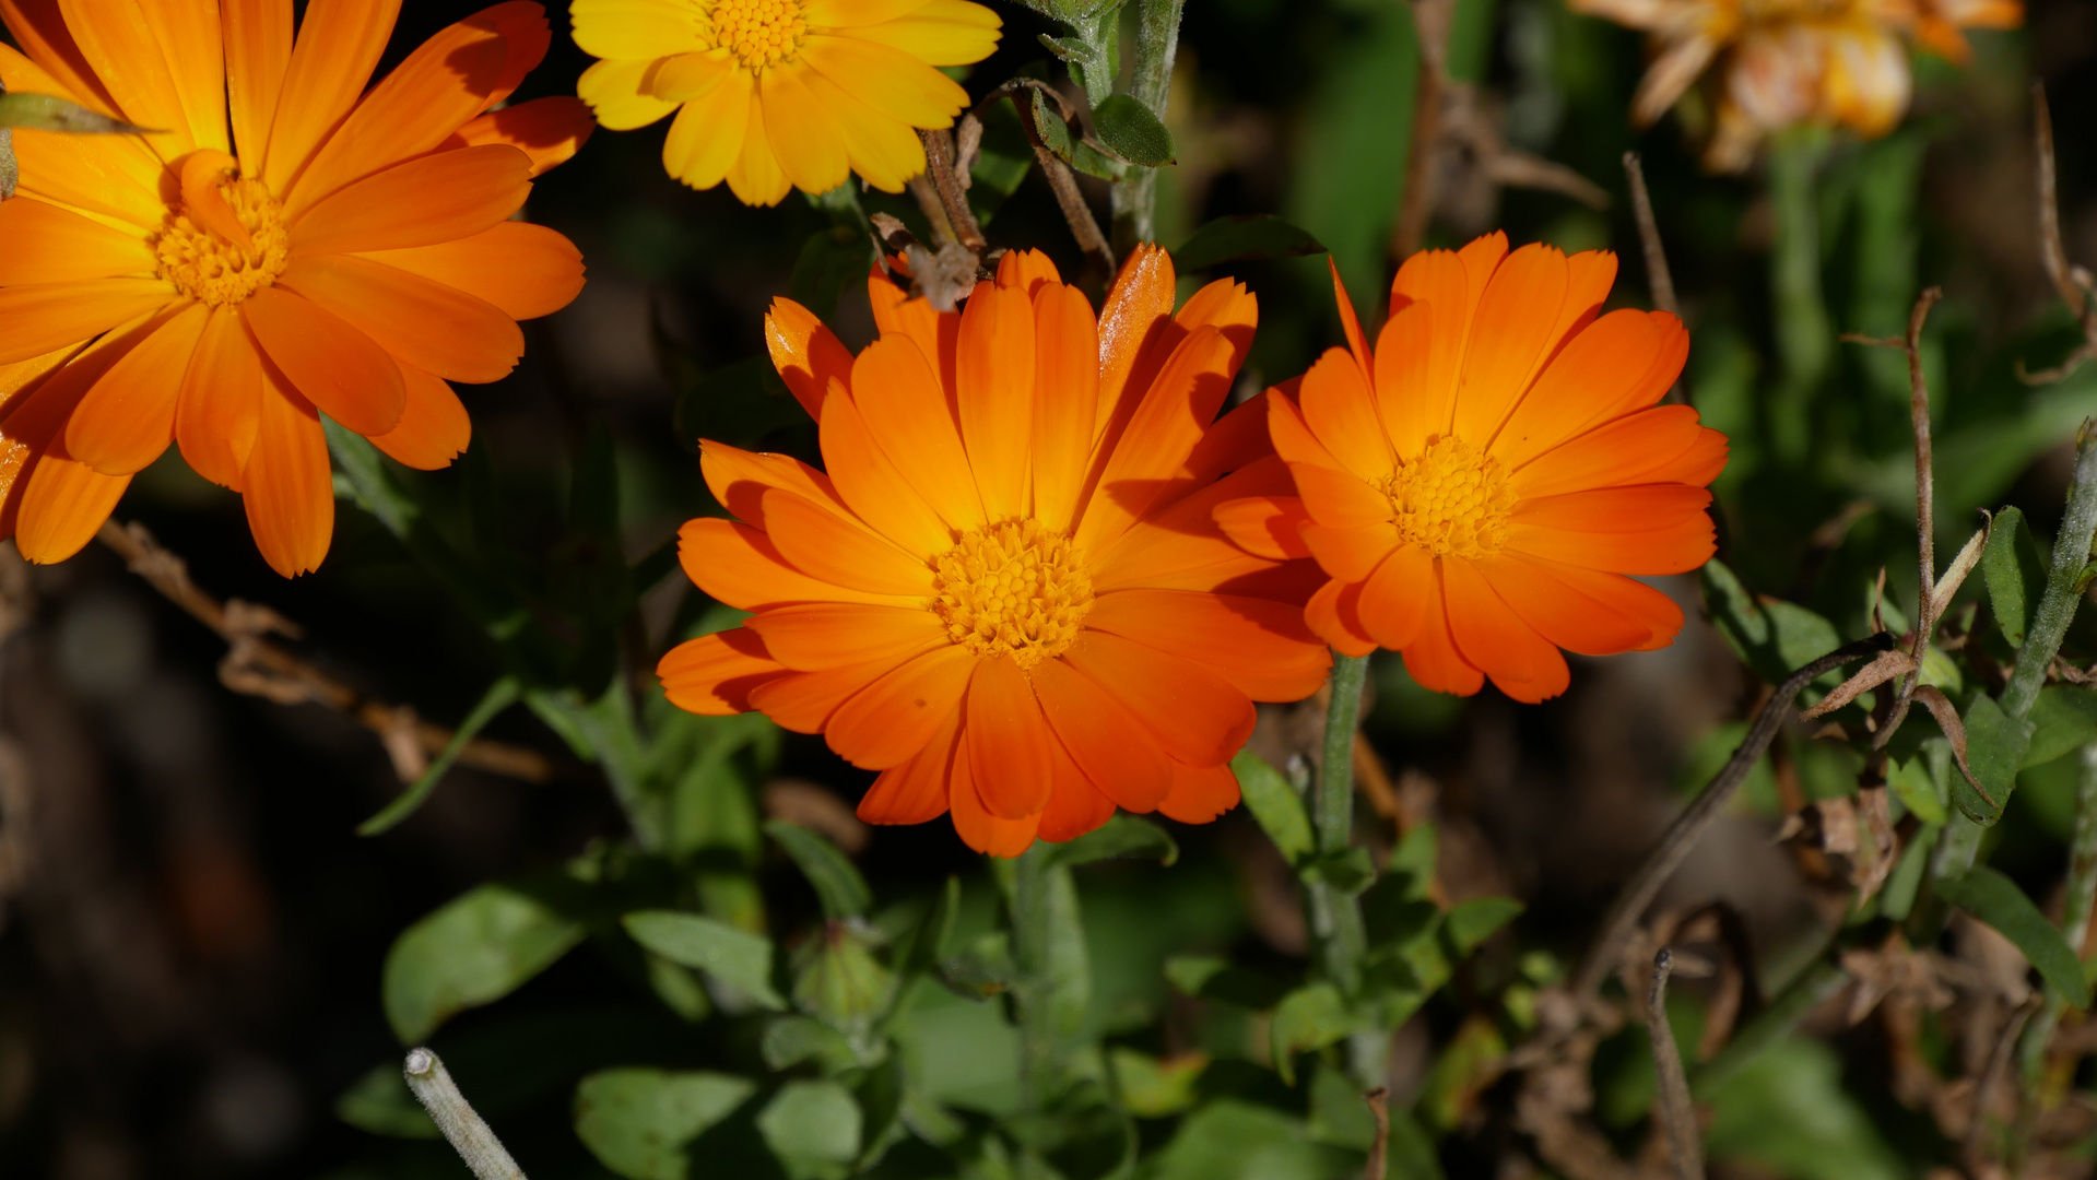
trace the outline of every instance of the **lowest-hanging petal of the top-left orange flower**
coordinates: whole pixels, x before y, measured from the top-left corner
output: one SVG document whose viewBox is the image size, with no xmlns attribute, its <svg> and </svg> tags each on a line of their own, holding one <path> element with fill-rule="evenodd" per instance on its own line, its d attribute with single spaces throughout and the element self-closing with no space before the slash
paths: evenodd
<svg viewBox="0 0 2097 1180">
<path fill-rule="evenodd" d="M 252 300 L 250 300 L 252 302 Z M 271 373 L 256 444 L 241 474 L 247 528 L 268 568 L 291 578 L 319 570 L 336 532 L 336 478 L 312 402 Z"/>
</svg>

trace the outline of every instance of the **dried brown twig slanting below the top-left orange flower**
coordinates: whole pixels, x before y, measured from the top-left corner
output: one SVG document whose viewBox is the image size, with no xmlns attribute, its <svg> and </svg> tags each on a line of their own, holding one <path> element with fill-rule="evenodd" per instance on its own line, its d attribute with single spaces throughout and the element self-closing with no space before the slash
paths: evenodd
<svg viewBox="0 0 2097 1180">
<path fill-rule="evenodd" d="M 218 602 L 203 593 L 189 581 L 189 566 L 182 558 L 153 541 L 145 526 L 109 520 L 96 537 L 124 558 L 130 572 L 226 641 L 226 656 L 218 662 L 218 679 L 233 692 L 277 704 L 310 700 L 354 717 L 384 742 L 401 782 L 421 778 L 428 759 L 451 744 L 451 729 L 419 721 L 415 711 L 405 704 L 369 698 L 273 643 L 271 635 L 296 639 L 300 629 L 266 606 L 241 599 Z M 554 778 L 554 765 L 545 755 L 484 738 L 466 742 L 459 763 L 524 782 Z"/>
</svg>

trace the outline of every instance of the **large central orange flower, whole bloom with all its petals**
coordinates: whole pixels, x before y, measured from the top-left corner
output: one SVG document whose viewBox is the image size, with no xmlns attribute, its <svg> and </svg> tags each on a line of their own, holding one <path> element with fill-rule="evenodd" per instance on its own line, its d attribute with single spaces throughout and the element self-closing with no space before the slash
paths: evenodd
<svg viewBox="0 0 2097 1180">
<path fill-rule="evenodd" d="M 877 275 L 858 358 L 778 300 L 772 360 L 828 472 L 702 444 L 736 520 L 686 524 L 684 568 L 755 614 L 663 656 L 669 698 L 820 731 L 883 771 L 862 820 L 952 811 L 994 855 L 1116 805 L 1187 824 L 1237 805 L 1252 702 L 1309 696 L 1329 658 L 1302 625 L 1317 570 L 1210 520 L 1290 484 L 1258 409 L 1212 421 L 1256 304 L 1218 281 L 1174 316 L 1172 291 L 1155 247 L 1097 319 L 1034 252 L 960 312 Z"/>
</svg>

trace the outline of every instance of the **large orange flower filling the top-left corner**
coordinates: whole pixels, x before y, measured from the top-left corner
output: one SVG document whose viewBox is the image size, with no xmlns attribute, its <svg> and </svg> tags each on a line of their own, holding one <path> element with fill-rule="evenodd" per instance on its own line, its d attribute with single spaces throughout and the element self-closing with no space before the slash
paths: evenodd
<svg viewBox="0 0 2097 1180">
<path fill-rule="evenodd" d="M 220 10 L 222 8 L 222 10 Z M 468 442 L 447 381 L 516 367 L 516 321 L 583 260 L 512 222 L 589 134 L 575 99 L 493 111 L 545 57 L 539 4 L 430 38 L 361 94 L 401 0 L 0 0 L 8 90 L 145 136 L 17 132 L 0 203 L 0 537 L 61 562 L 168 442 L 241 493 L 279 574 L 327 555 L 319 415 L 411 467 Z M 229 128 L 231 119 L 231 128 Z"/>
</svg>

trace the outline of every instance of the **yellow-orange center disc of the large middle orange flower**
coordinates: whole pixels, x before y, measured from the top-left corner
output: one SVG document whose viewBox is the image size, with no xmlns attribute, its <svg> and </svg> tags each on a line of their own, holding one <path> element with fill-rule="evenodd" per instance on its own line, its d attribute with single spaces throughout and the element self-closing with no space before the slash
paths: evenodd
<svg viewBox="0 0 2097 1180">
<path fill-rule="evenodd" d="M 946 637 L 1021 669 L 1059 656 L 1093 610 L 1093 578 L 1069 537 L 1032 520 L 971 528 L 933 560 L 933 614 Z"/>
</svg>

